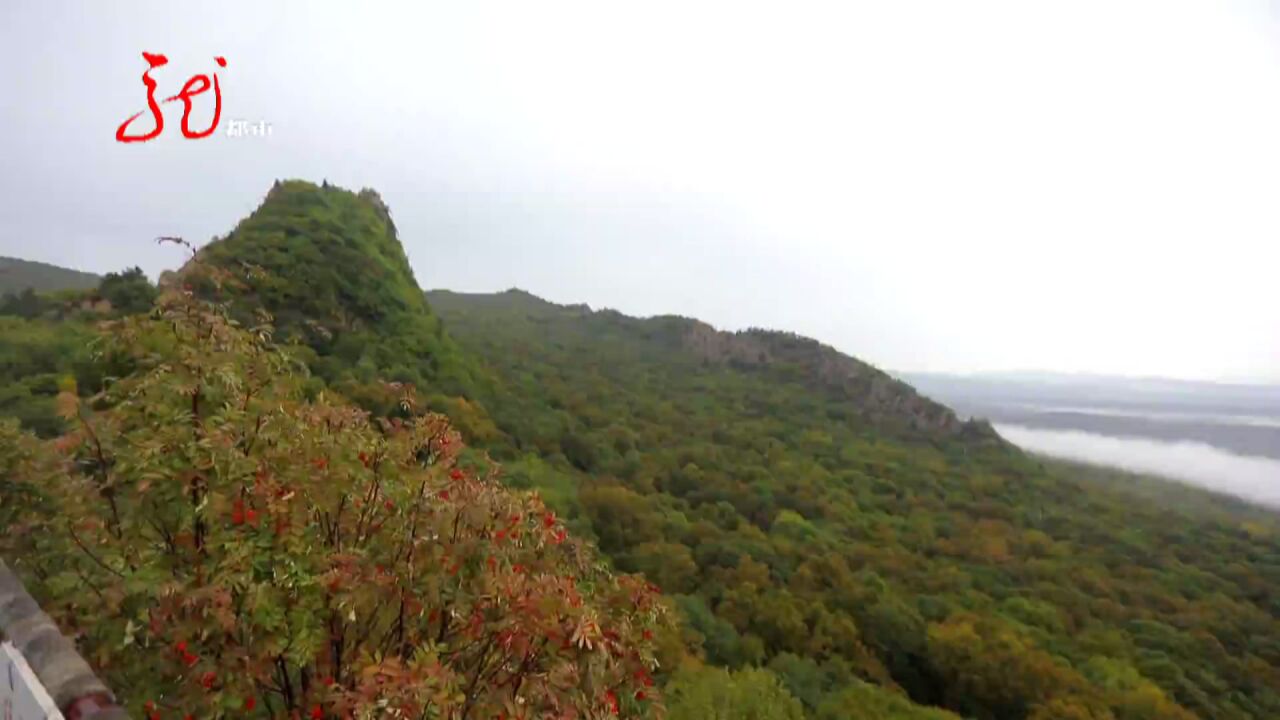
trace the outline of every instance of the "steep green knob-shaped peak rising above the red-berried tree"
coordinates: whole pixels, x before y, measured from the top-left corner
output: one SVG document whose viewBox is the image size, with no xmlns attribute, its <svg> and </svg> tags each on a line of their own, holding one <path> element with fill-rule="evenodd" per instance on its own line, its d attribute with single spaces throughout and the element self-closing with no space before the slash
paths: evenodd
<svg viewBox="0 0 1280 720">
<path fill-rule="evenodd" d="M 270 313 L 282 341 L 314 352 L 316 375 L 370 410 L 389 410 L 378 404 L 379 380 L 445 396 L 475 392 L 472 369 L 428 306 L 390 210 L 371 190 L 278 182 L 200 259 L 239 275 L 243 287 L 228 296 L 237 318 Z M 175 282 L 214 292 L 191 273 Z"/>
</svg>

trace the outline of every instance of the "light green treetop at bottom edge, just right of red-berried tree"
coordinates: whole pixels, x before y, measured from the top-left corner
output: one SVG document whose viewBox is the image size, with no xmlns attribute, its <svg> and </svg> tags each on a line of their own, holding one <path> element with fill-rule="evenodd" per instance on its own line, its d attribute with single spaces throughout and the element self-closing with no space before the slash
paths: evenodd
<svg viewBox="0 0 1280 720">
<path fill-rule="evenodd" d="M 691 667 L 667 685 L 671 720 L 803 720 L 804 710 L 773 673 Z"/>
</svg>

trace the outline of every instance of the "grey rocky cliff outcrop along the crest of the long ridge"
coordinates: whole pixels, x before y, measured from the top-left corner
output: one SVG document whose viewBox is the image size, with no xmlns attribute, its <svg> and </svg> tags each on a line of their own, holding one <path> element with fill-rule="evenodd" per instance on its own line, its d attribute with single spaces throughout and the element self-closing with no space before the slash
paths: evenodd
<svg viewBox="0 0 1280 720">
<path fill-rule="evenodd" d="M 996 437 L 986 423 L 961 421 L 951 409 L 922 396 L 911 386 L 815 340 L 756 329 L 721 332 L 692 320 L 682 346 L 707 363 L 781 370 L 808 384 L 838 392 L 874 424 L 897 424 L 911 430 L 974 439 Z"/>
</svg>

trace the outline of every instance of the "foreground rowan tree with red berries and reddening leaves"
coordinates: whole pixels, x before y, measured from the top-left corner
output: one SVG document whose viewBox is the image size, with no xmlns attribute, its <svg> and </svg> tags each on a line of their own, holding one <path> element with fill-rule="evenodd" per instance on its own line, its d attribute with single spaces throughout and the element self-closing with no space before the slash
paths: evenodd
<svg viewBox="0 0 1280 720">
<path fill-rule="evenodd" d="M 654 588 L 410 388 L 308 400 L 266 336 L 170 290 L 67 434 L 0 423 L 0 551 L 136 716 L 660 716 Z"/>
</svg>

